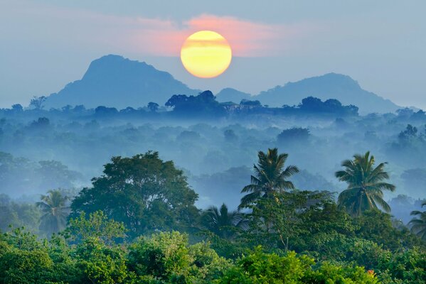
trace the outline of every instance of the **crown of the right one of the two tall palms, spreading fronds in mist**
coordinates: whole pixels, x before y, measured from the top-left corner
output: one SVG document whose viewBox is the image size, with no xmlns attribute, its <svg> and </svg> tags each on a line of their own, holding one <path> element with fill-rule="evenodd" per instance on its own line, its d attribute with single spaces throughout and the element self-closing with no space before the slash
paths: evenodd
<svg viewBox="0 0 426 284">
<path fill-rule="evenodd" d="M 338 199 L 340 207 L 353 215 L 359 216 L 370 209 L 380 206 L 385 212 L 390 212 L 389 204 L 383 200 L 382 190 L 395 190 L 395 185 L 383 182 L 389 175 L 384 171 L 386 163 L 380 163 L 374 168 L 374 156 L 370 152 L 364 155 L 353 155 L 353 160 L 344 160 L 341 165 L 345 170 L 336 172 L 336 178 L 348 183 L 346 190 L 341 192 Z"/>
</svg>

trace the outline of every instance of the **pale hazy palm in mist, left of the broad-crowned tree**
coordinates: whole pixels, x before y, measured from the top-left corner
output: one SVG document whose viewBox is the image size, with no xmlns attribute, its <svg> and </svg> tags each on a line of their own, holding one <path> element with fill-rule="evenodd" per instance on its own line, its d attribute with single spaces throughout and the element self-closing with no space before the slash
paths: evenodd
<svg viewBox="0 0 426 284">
<path fill-rule="evenodd" d="M 60 190 L 49 190 L 47 195 L 41 195 L 41 202 L 37 206 L 41 208 L 40 229 L 46 231 L 50 236 L 53 233 L 65 228 L 66 219 L 69 214 L 69 207 L 66 202 L 69 200 Z"/>
</svg>

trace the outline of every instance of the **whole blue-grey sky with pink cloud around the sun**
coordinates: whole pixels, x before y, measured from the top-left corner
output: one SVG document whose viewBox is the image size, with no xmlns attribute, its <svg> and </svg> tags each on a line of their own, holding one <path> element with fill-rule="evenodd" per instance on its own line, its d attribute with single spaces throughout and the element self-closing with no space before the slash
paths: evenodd
<svg viewBox="0 0 426 284">
<path fill-rule="evenodd" d="M 0 0 L 0 107 L 28 105 L 117 54 L 188 87 L 250 94 L 337 72 L 400 106 L 426 109 L 426 1 Z M 227 71 L 193 77 L 179 53 L 212 30 L 233 48 Z"/>
</svg>

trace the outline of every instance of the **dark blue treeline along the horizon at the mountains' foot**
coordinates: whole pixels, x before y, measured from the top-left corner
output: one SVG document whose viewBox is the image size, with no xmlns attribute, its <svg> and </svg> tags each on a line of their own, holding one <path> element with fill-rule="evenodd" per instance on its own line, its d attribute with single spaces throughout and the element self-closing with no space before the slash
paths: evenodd
<svg viewBox="0 0 426 284">
<path fill-rule="evenodd" d="M 4 115 L 14 116 L 23 112 L 35 113 L 43 111 L 46 97 L 34 97 L 31 99 L 28 109 L 24 109 L 21 104 L 14 104 L 11 109 L 3 109 Z M 166 109 L 169 107 L 169 109 Z M 169 111 L 168 111 L 169 110 Z M 170 111 L 171 110 L 171 111 Z M 180 116 L 183 118 L 200 118 L 206 119 L 212 117 L 224 116 L 245 116 L 251 114 L 265 115 L 307 115 L 313 114 L 316 116 L 331 115 L 331 116 L 358 116 L 358 107 L 350 105 L 344 106 L 337 99 L 328 99 L 322 102 L 321 99 L 315 97 L 307 97 L 302 99 L 298 106 L 284 105 L 282 108 L 270 108 L 267 105 L 260 104 L 257 100 L 243 99 L 241 102 L 217 102 L 211 91 L 204 91 L 197 96 L 187 96 L 185 94 L 173 95 L 164 105 L 160 107 L 155 102 L 149 102 L 147 106 L 134 109 L 127 107 L 125 109 L 116 109 L 115 107 L 99 106 L 95 109 L 85 109 L 83 105 L 65 106 L 62 109 L 50 109 L 48 111 L 53 115 L 65 114 L 68 116 L 75 115 L 92 115 L 100 117 L 117 117 L 117 116 L 153 116 L 158 114 L 161 116 Z"/>
</svg>

